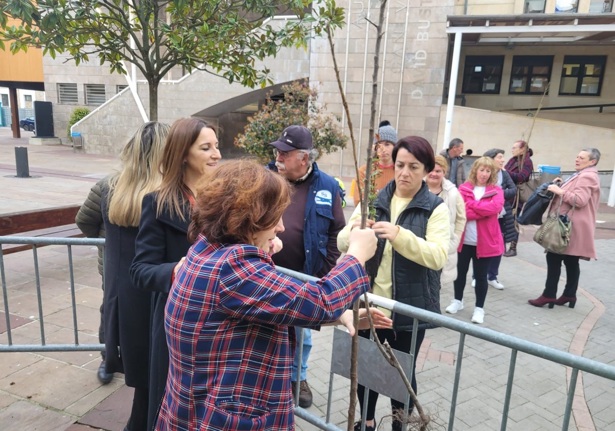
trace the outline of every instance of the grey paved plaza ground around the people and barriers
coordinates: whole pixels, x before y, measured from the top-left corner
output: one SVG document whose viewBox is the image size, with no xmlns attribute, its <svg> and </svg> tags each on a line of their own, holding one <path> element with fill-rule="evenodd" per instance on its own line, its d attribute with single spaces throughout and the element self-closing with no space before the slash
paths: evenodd
<svg viewBox="0 0 615 431">
<path fill-rule="evenodd" d="M 24 132 L 28 134 L 28 132 Z M 28 147 L 31 175 L 17 179 L 14 147 Z M 111 172 L 117 160 L 106 156 L 73 153 L 69 147 L 35 147 L 26 138 L 15 140 L 0 128 L 0 214 L 67 204 L 81 204 L 93 183 Z M 344 179 L 346 180 L 346 179 Z M 347 184 L 350 180 L 347 180 Z M 349 216 L 352 207 L 345 212 Z M 560 350 L 615 365 L 615 307 L 612 289 L 615 268 L 615 211 L 601 205 L 596 234 L 598 260 L 581 262 L 579 297 L 575 308 L 535 308 L 526 300 L 542 292 L 546 262 L 542 249 L 533 241 L 533 227 L 525 228 L 518 256 L 503 258 L 499 280 L 503 291 L 491 289 L 485 304 L 485 328 L 511 334 Z M 7 295 L 14 343 L 40 342 L 36 307 L 34 268 L 29 251 L 4 258 Z M 81 342 L 97 342 L 100 276 L 94 248 L 73 248 L 77 302 L 77 326 Z M 72 342 L 70 292 L 66 271 L 66 248 L 39 249 L 39 271 L 47 343 Z M 565 272 L 562 273 L 565 276 Z M 564 281 L 560 283 L 560 292 Z M 466 308 L 453 318 L 469 321 L 474 293 L 467 284 Z M 453 296 L 452 286 L 441 292 L 443 308 Z M 0 310 L 4 302 L 0 301 Z M 313 332 L 308 381 L 314 392 L 309 411 L 324 416 L 326 408 L 331 328 Z M 4 312 L 0 312 L 0 343 L 6 344 Z M 453 386 L 455 355 L 459 336 L 448 329 L 427 331 L 418 358 L 418 392 L 437 425 L 446 429 Z M 482 340 L 466 337 L 456 430 L 499 429 L 506 389 L 510 352 Z M 121 431 L 129 416 L 131 390 L 121 376 L 100 385 L 96 352 L 0 353 L 0 429 Z M 510 400 L 508 430 L 560 430 L 566 397 L 566 369 L 529 355 L 517 356 L 515 384 Z M 577 387 L 570 430 L 615 429 L 615 384 L 583 374 Z M 346 428 L 348 382 L 336 377 L 333 385 L 331 420 Z M 376 417 L 390 413 L 388 400 L 378 401 Z M 298 420 L 297 429 L 315 427 Z M 385 424 L 381 430 L 389 430 Z"/>
</svg>

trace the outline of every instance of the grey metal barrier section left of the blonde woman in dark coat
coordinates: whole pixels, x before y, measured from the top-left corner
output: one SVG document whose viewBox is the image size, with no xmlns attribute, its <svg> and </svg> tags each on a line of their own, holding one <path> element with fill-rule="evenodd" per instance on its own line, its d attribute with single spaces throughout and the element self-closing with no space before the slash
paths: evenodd
<svg viewBox="0 0 615 431">
<path fill-rule="evenodd" d="M 13 344 L 10 328 L 9 298 L 7 295 L 6 273 L 4 270 L 4 254 L 2 254 L 2 249 L 0 248 L 0 278 L 2 280 L 2 299 L 4 300 L 4 317 L 6 318 L 8 337 L 8 344 L 0 344 L 0 352 L 100 352 L 101 350 L 105 350 L 104 344 L 79 344 L 72 250 L 72 246 L 103 246 L 104 248 L 105 240 L 103 238 L 42 238 L 36 236 L 0 236 L 0 246 L 2 244 L 32 245 L 32 253 L 34 257 L 36 296 L 38 299 L 38 320 L 39 328 L 41 330 L 41 344 Z M 41 294 L 41 277 L 39 273 L 38 245 L 65 245 L 68 249 L 68 273 L 71 290 L 71 306 L 73 308 L 74 344 L 46 344 L 45 342 L 45 323 L 42 312 L 43 300 Z"/>
</svg>

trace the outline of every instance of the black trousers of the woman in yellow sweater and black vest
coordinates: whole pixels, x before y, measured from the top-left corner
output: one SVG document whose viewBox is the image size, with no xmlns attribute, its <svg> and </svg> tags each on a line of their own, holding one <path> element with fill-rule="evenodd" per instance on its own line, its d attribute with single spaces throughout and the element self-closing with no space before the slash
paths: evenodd
<svg viewBox="0 0 615 431">
<path fill-rule="evenodd" d="M 412 344 L 412 331 L 400 331 L 395 332 L 393 329 L 376 329 L 376 334 L 378 334 L 378 338 L 381 342 L 385 340 L 389 342 L 391 348 L 395 350 L 399 350 L 400 352 L 410 353 L 410 347 Z M 369 338 L 370 330 L 363 329 L 359 331 L 359 337 Z M 419 329 L 416 332 L 416 347 L 415 347 L 415 360 L 412 368 L 412 379 L 410 380 L 410 385 L 412 390 L 416 393 L 416 356 L 418 356 L 419 350 L 421 348 L 421 344 L 423 344 L 423 339 L 425 337 L 425 329 Z M 376 401 L 378 401 L 378 392 L 370 390 L 370 393 L 367 397 L 367 416 L 366 420 L 371 421 L 374 419 L 376 413 Z M 361 406 L 361 414 L 363 414 L 363 397 L 365 397 L 365 386 L 358 385 L 357 387 L 357 397 L 359 398 L 359 405 Z M 413 408 L 412 401 L 410 400 L 410 406 L 408 406 L 408 412 L 411 412 Z M 403 402 L 393 400 L 391 398 L 391 410 L 395 413 L 396 410 L 400 410 L 403 413 Z M 397 422 L 397 423 L 396 423 Z M 401 422 L 393 421 L 393 429 L 396 427 L 401 429 Z"/>
</svg>

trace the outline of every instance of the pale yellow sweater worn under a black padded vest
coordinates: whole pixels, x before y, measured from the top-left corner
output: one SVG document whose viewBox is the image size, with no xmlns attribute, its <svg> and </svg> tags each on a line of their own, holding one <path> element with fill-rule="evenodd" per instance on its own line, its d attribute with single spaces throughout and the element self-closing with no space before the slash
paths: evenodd
<svg viewBox="0 0 615 431">
<path fill-rule="evenodd" d="M 412 201 L 393 195 L 391 199 L 391 220 L 397 220 L 399 214 Z M 361 217 L 361 206 L 357 206 L 350 217 L 346 227 L 338 234 L 339 251 L 348 250 L 348 237 L 355 220 Z M 448 258 L 448 241 L 450 238 L 450 222 L 448 207 L 442 203 L 435 207 L 431 217 L 427 220 L 427 230 L 425 239 L 419 238 L 413 232 L 403 227 L 399 227 L 399 233 L 394 241 L 387 241 L 384 244 L 383 258 L 378 267 L 378 275 L 374 280 L 373 292 L 376 295 L 392 298 L 393 281 L 391 280 L 391 265 L 393 261 L 393 250 L 401 254 L 408 260 L 412 260 L 419 265 L 439 270 L 446 263 Z M 383 309 L 384 314 L 391 316 L 389 310 Z"/>
</svg>

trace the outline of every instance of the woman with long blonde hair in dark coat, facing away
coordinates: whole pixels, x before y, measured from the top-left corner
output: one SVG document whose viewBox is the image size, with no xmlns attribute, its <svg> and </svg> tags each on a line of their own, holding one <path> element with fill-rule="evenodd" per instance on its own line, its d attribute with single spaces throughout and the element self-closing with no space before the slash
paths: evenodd
<svg viewBox="0 0 615 431">
<path fill-rule="evenodd" d="M 121 169 L 101 183 L 100 212 L 105 226 L 105 335 L 106 371 L 124 373 L 135 388 L 125 431 L 145 431 L 148 414 L 149 315 L 147 292 L 135 289 L 129 277 L 141 200 L 156 190 L 162 175 L 167 124 L 151 121 L 139 127 L 122 150 Z"/>
</svg>

